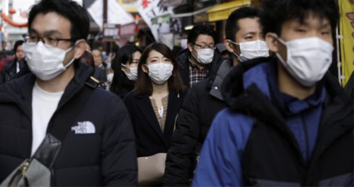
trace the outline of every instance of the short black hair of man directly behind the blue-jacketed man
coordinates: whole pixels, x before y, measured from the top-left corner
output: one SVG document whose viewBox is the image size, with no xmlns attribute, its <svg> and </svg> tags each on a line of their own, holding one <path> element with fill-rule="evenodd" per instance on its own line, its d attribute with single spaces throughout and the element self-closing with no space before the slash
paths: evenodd
<svg viewBox="0 0 354 187">
<path fill-rule="evenodd" d="M 253 6 L 245 6 L 233 11 L 225 25 L 225 39 L 235 41 L 235 35 L 240 30 L 239 20 L 243 18 L 259 18 L 261 9 Z"/>
</svg>

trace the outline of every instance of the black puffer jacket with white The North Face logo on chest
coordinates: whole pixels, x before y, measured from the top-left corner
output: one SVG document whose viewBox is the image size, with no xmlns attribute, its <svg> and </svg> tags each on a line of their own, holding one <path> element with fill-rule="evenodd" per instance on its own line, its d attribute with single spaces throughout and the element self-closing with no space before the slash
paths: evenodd
<svg viewBox="0 0 354 187">
<path fill-rule="evenodd" d="M 134 132 L 124 103 L 118 96 L 86 84 L 93 69 L 79 62 L 67 85 L 47 133 L 64 131 L 62 147 L 52 169 L 52 186 L 136 186 L 137 160 Z M 0 89 L 0 181 L 30 158 L 32 91 L 35 75 L 28 73 Z M 93 89 L 79 115 L 70 116 L 71 103 Z M 84 101 L 83 101 L 84 102 Z M 67 129 L 62 118 L 76 118 Z M 76 133 L 91 123 L 91 133 Z"/>
</svg>

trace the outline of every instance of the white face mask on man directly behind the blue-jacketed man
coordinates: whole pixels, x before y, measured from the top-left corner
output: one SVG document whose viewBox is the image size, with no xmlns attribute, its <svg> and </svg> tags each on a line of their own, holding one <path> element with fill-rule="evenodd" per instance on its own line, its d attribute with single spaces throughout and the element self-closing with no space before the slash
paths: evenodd
<svg viewBox="0 0 354 187">
<path fill-rule="evenodd" d="M 268 45 L 265 41 L 262 40 L 254 40 L 251 42 L 233 42 L 232 40 L 229 40 L 235 45 L 240 46 L 240 55 L 236 55 L 236 52 L 234 52 L 234 55 L 236 55 L 237 60 L 239 62 L 245 62 L 246 60 L 250 60 L 253 58 L 257 57 L 268 57 L 269 56 L 269 49 Z"/>
</svg>

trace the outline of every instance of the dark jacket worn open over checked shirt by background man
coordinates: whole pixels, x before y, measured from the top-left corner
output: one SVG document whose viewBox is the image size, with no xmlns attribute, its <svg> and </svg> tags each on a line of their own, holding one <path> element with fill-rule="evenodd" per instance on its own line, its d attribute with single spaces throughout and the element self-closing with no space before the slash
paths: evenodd
<svg viewBox="0 0 354 187">
<path fill-rule="evenodd" d="M 179 67 L 179 72 L 181 74 L 181 78 L 183 81 L 183 85 L 187 86 L 188 88 L 190 88 L 189 85 L 189 66 L 190 66 L 190 61 L 189 58 L 190 57 L 190 51 L 187 49 L 183 50 L 182 52 L 180 52 L 180 54 L 178 55 L 178 67 Z M 210 69 L 207 72 L 207 76 L 205 77 L 205 79 L 207 79 L 208 77 L 210 77 L 210 75 L 212 74 L 212 65 L 213 64 L 217 64 L 217 62 L 220 62 L 221 57 L 219 55 L 219 52 L 217 52 L 215 50 L 214 52 L 214 57 L 212 58 L 212 62 L 209 64 L 210 65 Z"/>
</svg>

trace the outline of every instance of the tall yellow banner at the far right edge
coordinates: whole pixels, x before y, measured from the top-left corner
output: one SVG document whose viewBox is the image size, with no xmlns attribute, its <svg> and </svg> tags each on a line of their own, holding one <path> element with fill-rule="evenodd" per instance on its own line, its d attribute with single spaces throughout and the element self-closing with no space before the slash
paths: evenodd
<svg viewBox="0 0 354 187">
<path fill-rule="evenodd" d="M 339 23 L 341 38 L 342 86 L 345 86 L 354 71 L 354 1 L 339 0 L 341 21 Z"/>
</svg>

